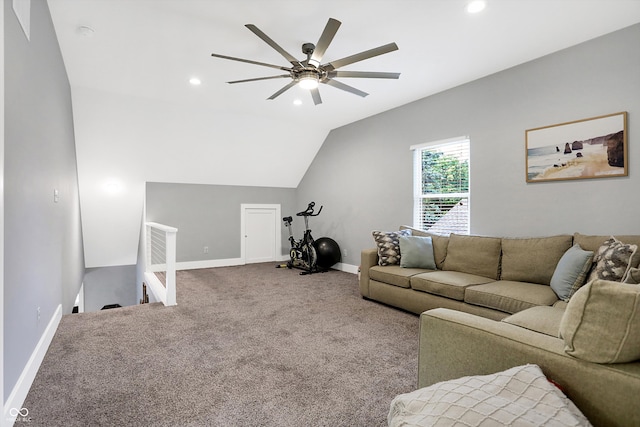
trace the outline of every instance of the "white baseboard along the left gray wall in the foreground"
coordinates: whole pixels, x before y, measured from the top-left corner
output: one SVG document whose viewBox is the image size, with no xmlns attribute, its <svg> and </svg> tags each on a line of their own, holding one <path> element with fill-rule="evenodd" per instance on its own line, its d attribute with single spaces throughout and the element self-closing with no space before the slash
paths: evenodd
<svg viewBox="0 0 640 427">
<path fill-rule="evenodd" d="M 40 369 L 40 365 L 44 360 L 45 354 L 47 354 L 47 350 L 49 349 L 49 345 L 51 341 L 53 341 L 53 336 L 58 329 L 58 325 L 60 324 L 60 320 L 62 319 L 62 304 L 58 305 L 55 313 L 51 317 L 49 324 L 47 325 L 44 333 L 40 337 L 40 341 L 36 345 L 36 348 L 31 353 L 31 357 L 27 362 L 26 366 L 22 370 L 22 374 L 18 378 L 18 382 L 13 387 L 11 394 L 7 398 L 7 401 L 4 405 L 4 420 L 7 425 L 13 425 L 18 416 L 28 418 L 28 410 L 24 411 L 25 408 L 22 407 L 24 400 L 27 398 L 27 394 L 29 394 L 29 389 L 33 384 L 33 380 L 36 378 L 36 374 L 38 373 L 38 369 Z M 25 415 L 26 414 L 26 415 Z"/>
</svg>

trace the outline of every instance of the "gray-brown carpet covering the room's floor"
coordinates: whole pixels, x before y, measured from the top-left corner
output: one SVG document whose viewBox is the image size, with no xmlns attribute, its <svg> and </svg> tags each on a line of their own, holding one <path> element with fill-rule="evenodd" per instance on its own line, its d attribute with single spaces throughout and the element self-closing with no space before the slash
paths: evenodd
<svg viewBox="0 0 640 427">
<path fill-rule="evenodd" d="M 416 388 L 418 317 L 339 271 L 178 272 L 178 305 L 63 316 L 30 426 L 383 426 Z"/>
</svg>

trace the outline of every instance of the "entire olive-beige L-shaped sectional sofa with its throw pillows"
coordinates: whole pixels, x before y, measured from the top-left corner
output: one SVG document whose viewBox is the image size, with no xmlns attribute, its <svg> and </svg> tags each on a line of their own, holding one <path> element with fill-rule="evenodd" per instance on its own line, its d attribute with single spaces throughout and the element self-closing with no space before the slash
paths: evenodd
<svg viewBox="0 0 640 427">
<path fill-rule="evenodd" d="M 374 236 L 361 294 L 421 313 L 418 390 L 394 399 L 390 425 L 449 419 L 442 403 L 454 384 L 531 364 L 592 425 L 640 425 L 640 236 L 444 237 L 410 227 Z"/>
</svg>

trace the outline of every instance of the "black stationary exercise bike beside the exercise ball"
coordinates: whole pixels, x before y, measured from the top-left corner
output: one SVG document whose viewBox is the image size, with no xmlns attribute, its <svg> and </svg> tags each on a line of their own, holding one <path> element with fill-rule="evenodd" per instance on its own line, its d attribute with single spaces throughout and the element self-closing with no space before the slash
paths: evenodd
<svg viewBox="0 0 640 427">
<path fill-rule="evenodd" d="M 309 203 L 307 209 L 302 212 L 298 212 L 296 216 L 304 218 L 304 235 L 302 239 L 296 240 L 293 237 L 293 231 L 291 229 L 291 223 L 293 218 L 290 216 L 282 218 L 284 226 L 289 229 L 289 242 L 291 243 L 291 249 L 289 250 L 290 260 L 285 265 L 278 265 L 278 268 L 299 268 L 303 270 L 300 274 L 312 274 L 319 271 L 327 271 L 318 267 L 318 254 L 314 245 L 313 237 L 311 236 L 311 230 L 309 229 L 309 217 L 318 216 L 322 212 L 322 206 L 318 209 L 318 212 L 314 213 L 315 202 Z"/>
</svg>

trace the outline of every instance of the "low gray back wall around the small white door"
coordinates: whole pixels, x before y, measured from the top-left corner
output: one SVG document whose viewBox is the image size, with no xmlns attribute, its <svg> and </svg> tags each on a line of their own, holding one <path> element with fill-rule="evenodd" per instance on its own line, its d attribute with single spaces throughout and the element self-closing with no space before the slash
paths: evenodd
<svg viewBox="0 0 640 427">
<path fill-rule="evenodd" d="M 279 204 L 282 216 L 306 207 L 295 204 L 295 189 L 229 185 L 166 184 L 148 182 L 147 221 L 178 229 L 177 261 L 205 261 L 240 258 L 240 205 Z M 304 230 L 294 220 L 299 239 Z M 299 235 L 300 236 L 299 236 Z M 288 231 L 282 227 L 283 255 L 288 254 Z M 203 253 L 203 247 L 209 253 Z"/>
</svg>

